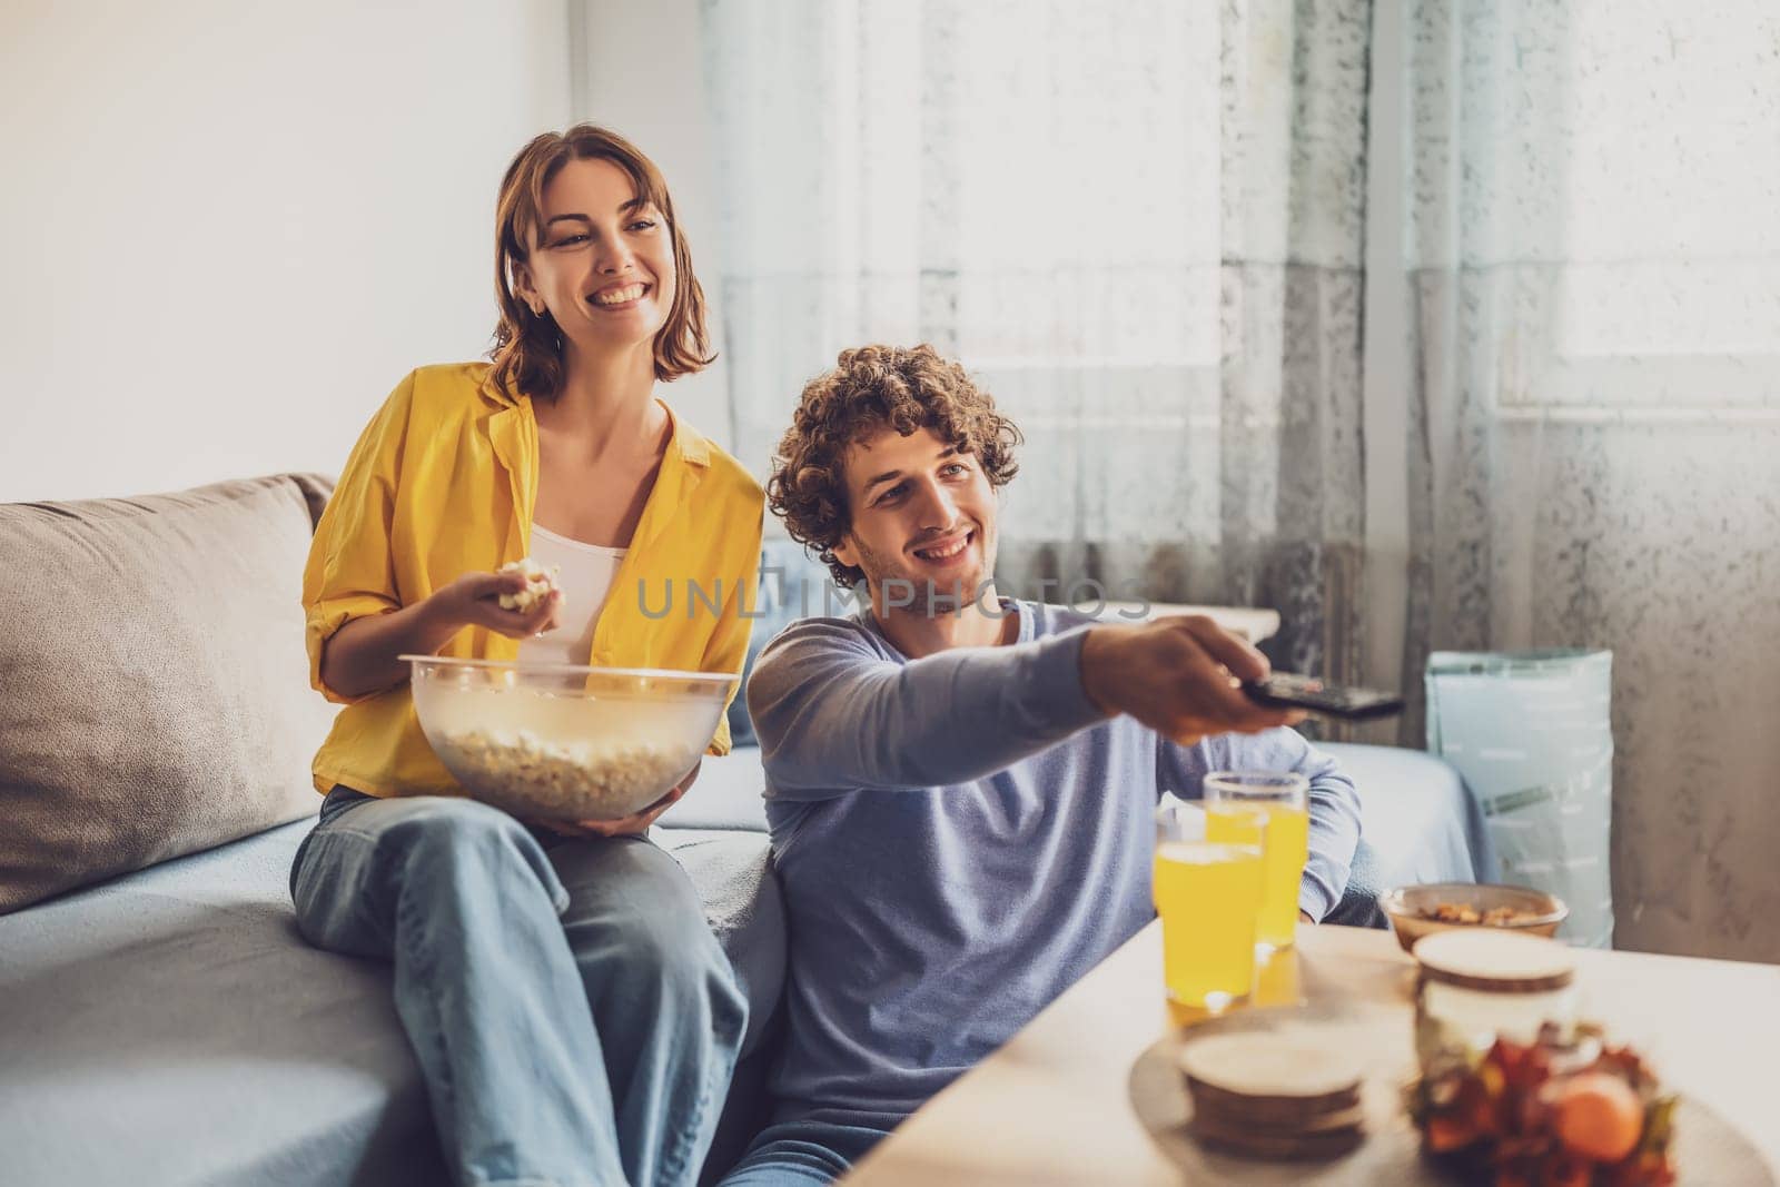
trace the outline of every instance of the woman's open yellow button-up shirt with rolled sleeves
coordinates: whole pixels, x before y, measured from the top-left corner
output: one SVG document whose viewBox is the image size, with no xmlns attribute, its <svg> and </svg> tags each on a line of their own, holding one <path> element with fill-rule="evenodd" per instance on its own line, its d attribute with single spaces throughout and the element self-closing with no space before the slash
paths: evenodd
<svg viewBox="0 0 1780 1187">
<path fill-rule="evenodd" d="M 527 397 L 495 392 L 488 363 L 422 367 L 390 393 L 360 436 L 303 571 L 310 683 L 345 705 L 315 755 L 319 792 L 463 795 L 433 755 L 408 683 L 363 698 L 322 683 L 322 644 L 344 623 L 427 598 L 470 571 L 530 550 L 538 498 L 538 418 Z M 586 662 L 740 673 L 760 566 L 760 484 L 673 415 L 662 457 Z M 721 580 L 721 614 L 687 614 L 689 582 Z M 643 582 L 643 596 L 637 596 Z M 662 614 L 673 596 L 671 614 Z M 746 594 L 744 594 L 746 591 Z M 650 612 L 644 614 L 644 603 Z M 465 626 L 440 655 L 513 660 L 518 641 Z M 712 755 L 730 749 L 717 723 Z"/>
</svg>

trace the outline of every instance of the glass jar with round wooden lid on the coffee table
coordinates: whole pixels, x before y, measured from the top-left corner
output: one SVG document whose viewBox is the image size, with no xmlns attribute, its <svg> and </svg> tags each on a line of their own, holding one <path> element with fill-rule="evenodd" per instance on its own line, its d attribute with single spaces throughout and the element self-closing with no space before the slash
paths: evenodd
<svg viewBox="0 0 1780 1187">
<path fill-rule="evenodd" d="M 1435 933 L 1415 945 L 1415 1054 L 1474 1059 L 1497 1038 L 1531 1045 L 1545 1025 L 1575 1041 L 1575 957 L 1556 940 L 1490 927 Z"/>
</svg>

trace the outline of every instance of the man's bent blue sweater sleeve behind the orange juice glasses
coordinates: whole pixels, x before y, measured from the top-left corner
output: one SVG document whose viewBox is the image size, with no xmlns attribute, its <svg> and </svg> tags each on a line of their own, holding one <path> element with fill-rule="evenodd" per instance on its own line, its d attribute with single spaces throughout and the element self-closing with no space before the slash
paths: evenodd
<svg viewBox="0 0 1780 1187">
<path fill-rule="evenodd" d="M 1162 742 L 1164 790 L 1200 797 L 1210 771 L 1296 771 L 1310 781 L 1310 858 L 1298 884 L 1298 906 L 1314 920 L 1333 911 L 1347 890 L 1353 851 L 1360 844 L 1360 792 L 1353 779 L 1296 730 L 1226 733 L 1193 747 Z"/>
</svg>

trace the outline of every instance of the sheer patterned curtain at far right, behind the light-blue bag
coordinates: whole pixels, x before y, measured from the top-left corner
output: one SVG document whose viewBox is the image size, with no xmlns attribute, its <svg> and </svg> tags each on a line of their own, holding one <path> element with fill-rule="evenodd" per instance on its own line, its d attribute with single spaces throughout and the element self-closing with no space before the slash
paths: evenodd
<svg viewBox="0 0 1780 1187">
<path fill-rule="evenodd" d="M 1611 648 L 1616 941 L 1780 959 L 1780 11 L 1406 30 L 1404 682 Z"/>
</svg>

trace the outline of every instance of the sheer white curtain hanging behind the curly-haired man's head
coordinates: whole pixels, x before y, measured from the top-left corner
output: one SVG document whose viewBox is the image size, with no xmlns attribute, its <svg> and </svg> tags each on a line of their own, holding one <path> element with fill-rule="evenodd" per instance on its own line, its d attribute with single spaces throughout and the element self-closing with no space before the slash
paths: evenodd
<svg viewBox="0 0 1780 1187">
<path fill-rule="evenodd" d="M 1360 653 L 1365 0 L 707 0 L 735 440 L 862 342 L 1027 434 L 1006 587 Z M 1048 584 L 1048 585 L 1047 585 Z"/>
</svg>

